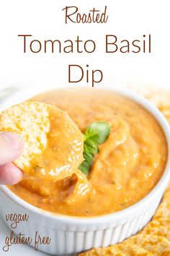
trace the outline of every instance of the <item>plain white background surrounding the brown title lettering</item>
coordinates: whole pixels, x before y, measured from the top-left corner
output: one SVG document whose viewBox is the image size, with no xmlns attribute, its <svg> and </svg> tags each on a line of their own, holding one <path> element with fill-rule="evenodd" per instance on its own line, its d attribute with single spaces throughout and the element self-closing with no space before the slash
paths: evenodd
<svg viewBox="0 0 170 256">
<path fill-rule="evenodd" d="M 76 5 L 79 12 L 88 12 L 107 5 L 107 24 L 64 23 L 66 5 Z M 0 1 L 0 88 L 68 84 L 68 64 L 79 64 L 90 69 L 102 69 L 103 81 L 114 85 L 169 87 L 169 0 L 1 0 Z M 23 54 L 22 39 L 18 34 L 32 34 L 32 40 L 92 39 L 97 43 L 94 54 Z M 140 39 L 151 34 L 151 54 L 105 54 L 106 34 L 119 40 Z M 76 46 L 76 45 L 75 45 Z M 75 48 L 76 50 L 76 48 Z M 86 85 L 84 81 L 76 86 Z M 1 95 L 1 93 L 0 93 Z M 3 205 L 0 205 L 3 207 Z M 9 230 L 0 221 L 0 252 Z M 41 255 L 30 247 L 15 246 L 8 254 Z"/>
</svg>

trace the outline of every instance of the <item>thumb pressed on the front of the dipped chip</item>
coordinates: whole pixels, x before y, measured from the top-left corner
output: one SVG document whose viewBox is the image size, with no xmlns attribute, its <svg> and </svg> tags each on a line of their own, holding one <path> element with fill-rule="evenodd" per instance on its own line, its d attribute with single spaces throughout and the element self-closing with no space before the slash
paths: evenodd
<svg viewBox="0 0 170 256">
<path fill-rule="evenodd" d="M 22 137 L 15 132 L 0 134 L 0 166 L 11 163 L 21 155 L 24 148 Z"/>
</svg>

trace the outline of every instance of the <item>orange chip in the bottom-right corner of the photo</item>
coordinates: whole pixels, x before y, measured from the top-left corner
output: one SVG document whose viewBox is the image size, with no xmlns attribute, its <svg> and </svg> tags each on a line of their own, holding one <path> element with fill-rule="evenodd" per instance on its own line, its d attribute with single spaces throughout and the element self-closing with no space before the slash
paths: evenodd
<svg viewBox="0 0 170 256">
<path fill-rule="evenodd" d="M 125 243 L 127 242 L 133 243 L 138 247 L 142 247 L 156 256 L 170 255 L 170 242 L 168 239 L 161 236 L 138 234 L 127 239 Z"/>
</svg>

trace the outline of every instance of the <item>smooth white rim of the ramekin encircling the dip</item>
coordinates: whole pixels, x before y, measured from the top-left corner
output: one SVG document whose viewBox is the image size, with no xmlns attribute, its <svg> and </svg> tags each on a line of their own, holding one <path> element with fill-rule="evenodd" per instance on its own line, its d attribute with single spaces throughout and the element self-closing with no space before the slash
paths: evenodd
<svg viewBox="0 0 170 256">
<path fill-rule="evenodd" d="M 55 88 L 53 88 L 53 89 L 55 89 Z M 101 216 L 88 216 L 88 217 L 66 216 L 66 215 L 61 215 L 58 213 L 50 213 L 46 210 L 37 208 L 34 205 L 31 205 L 30 203 L 22 200 L 22 198 L 15 195 L 8 187 L 6 187 L 5 185 L 1 185 L 0 189 L 2 192 L 4 192 L 4 194 L 6 196 L 10 197 L 12 200 L 14 200 L 14 202 L 17 202 L 17 204 L 19 204 L 22 208 L 26 208 L 27 210 L 30 210 L 32 213 L 40 215 L 44 218 L 50 218 L 55 221 L 61 221 L 63 223 L 73 223 L 73 224 L 78 224 L 78 225 L 79 224 L 81 224 L 81 225 L 89 224 L 90 225 L 91 223 L 94 223 L 94 222 L 95 223 L 108 223 L 108 222 L 111 222 L 111 221 L 114 221 L 117 219 L 125 218 L 126 216 L 130 216 L 132 213 L 133 214 L 136 212 L 140 213 L 140 209 L 142 210 L 142 208 L 145 207 L 145 205 L 148 205 L 149 202 L 152 201 L 152 198 L 154 196 L 156 196 L 156 191 L 158 192 L 158 190 L 162 188 L 161 190 L 162 190 L 162 192 L 164 192 L 164 190 L 166 189 L 166 186 L 169 182 L 169 179 L 170 179 L 170 128 L 169 128 L 168 121 L 163 116 L 163 114 L 161 114 L 161 112 L 158 110 L 158 108 L 156 108 L 156 106 L 154 106 L 152 103 L 150 103 L 148 100 L 146 100 L 146 98 L 144 98 L 141 95 L 138 95 L 138 93 L 135 93 L 132 90 L 128 90 L 125 88 L 120 89 L 120 88 L 116 88 L 116 87 L 115 88 L 106 88 L 105 90 L 112 90 L 112 92 L 115 92 L 115 93 L 123 95 L 127 98 L 130 98 L 132 101 L 135 101 L 143 108 L 146 108 L 146 110 L 149 113 L 151 113 L 152 116 L 155 117 L 156 121 L 158 121 L 158 124 L 161 126 L 161 128 L 164 131 L 164 135 L 166 137 L 166 141 L 167 141 L 167 145 L 168 145 L 168 156 L 167 156 L 166 167 L 164 169 L 164 174 L 162 174 L 161 179 L 159 179 L 158 183 L 151 190 L 151 192 L 149 192 L 148 195 L 143 197 L 142 200 L 136 202 L 134 205 L 131 205 L 130 207 L 120 210 L 118 212 L 108 213 L 108 214 L 101 215 Z M 19 90 L 20 93 L 22 93 L 23 91 L 25 93 L 25 88 Z M 17 95 L 18 92 L 14 93 L 14 94 Z M 12 97 L 14 97 L 14 94 Z M 33 94 L 33 95 L 35 95 L 35 94 Z M 3 103 L 1 104 L 1 106 L 5 105 L 5 103 L 7 101 L 10 101 L 10 98 L 12 98 L 12 97 L 9 96 L 6 99 L 6 101 L 4 102 L 4 104 Z M 29 98 L 30 98 L 30 96 L 29 96 Z M 22 99 L 22 101 L 23 101 L 23 99 Z"/>
</svg>

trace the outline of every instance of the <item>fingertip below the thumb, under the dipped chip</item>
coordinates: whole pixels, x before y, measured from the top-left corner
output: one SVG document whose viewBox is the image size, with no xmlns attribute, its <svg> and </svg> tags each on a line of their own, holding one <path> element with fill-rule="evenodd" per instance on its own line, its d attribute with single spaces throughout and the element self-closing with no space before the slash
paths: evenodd
<svg viewBox="0 0 170 256">
<path fill-rule="evenodd" d="M 0 184 L 13 185 L 20 182 L 23 173 L 13 163 L 0 166 Z"/>
</svg>

